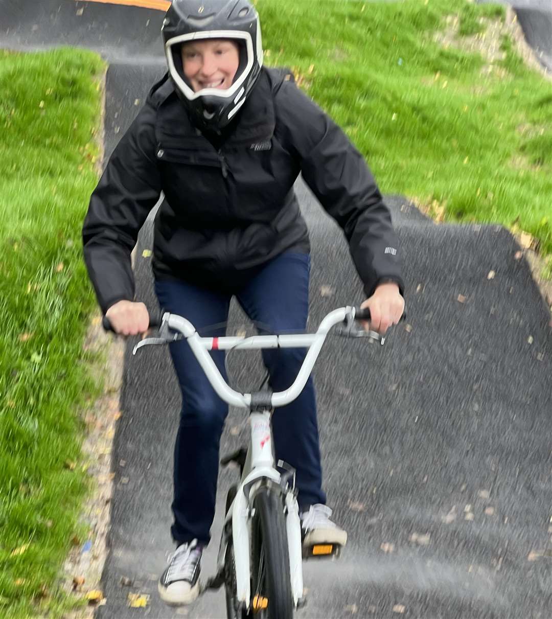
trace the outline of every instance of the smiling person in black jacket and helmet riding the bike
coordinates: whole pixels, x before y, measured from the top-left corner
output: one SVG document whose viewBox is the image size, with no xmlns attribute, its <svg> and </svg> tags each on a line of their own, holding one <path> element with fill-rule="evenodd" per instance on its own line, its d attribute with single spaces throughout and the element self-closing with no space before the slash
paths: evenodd
<svg viewBox="0 0 552 619">
<path fill-rule="evenodd" d="M 226 321 L 232 297 L 273 332 L 306 329 L 309 235 L 293 184 L 299 173 L 350 245 L 370 328 L 403 313 L 398 242 L 364 158 L 290 75 L 263 66 L 261 28 L 247 0 L 173 0 L 162 27 L 168 72 L 150 90 L 93 191 L 84 256 L 114 331 L 147 331 L 134 300 L 131 251 L 163 192 L 154 226 L 160 306 L 198 329 Z M 365 324 L 368 327 L 368 324 Z M 224 335 L 218 329 L 209 335 Z M 201 554 L 215 513 L 218 451 L 228 405 L 189 345 L 171 357 L 182 392 L 175 444 L 176 552 L 158 589 L 171 604 L 199 593 Z M 264 350 L 270 388 L 287 389 L 304 349 Z M 212 352 L 226 379 L 224 352 Z M 313 379 L 274 415 L 276 457 L 296 469 L 304 543 L 345 545 L 322 490 Z"/>
</svg>

